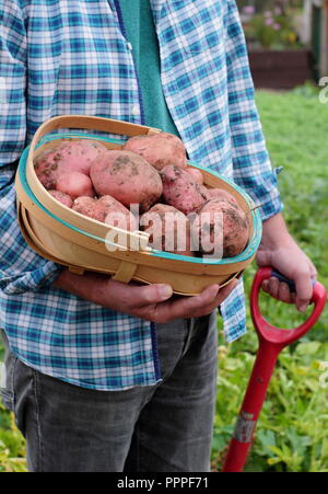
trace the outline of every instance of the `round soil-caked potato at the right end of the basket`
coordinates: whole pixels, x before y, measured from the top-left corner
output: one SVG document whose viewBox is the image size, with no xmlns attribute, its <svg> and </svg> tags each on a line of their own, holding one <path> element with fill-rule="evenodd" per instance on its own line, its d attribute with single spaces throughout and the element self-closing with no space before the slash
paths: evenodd
<svg viewBox="0 0 328 494">
<path fill-rule="evenodd" d="M 191 235 L 195 242 L 199 241 L 203 254 L 234 257 L 245 250 L 249 240 L 247 215 L 236 204 L 211 199 L 200 208 Z"/>
</svg>

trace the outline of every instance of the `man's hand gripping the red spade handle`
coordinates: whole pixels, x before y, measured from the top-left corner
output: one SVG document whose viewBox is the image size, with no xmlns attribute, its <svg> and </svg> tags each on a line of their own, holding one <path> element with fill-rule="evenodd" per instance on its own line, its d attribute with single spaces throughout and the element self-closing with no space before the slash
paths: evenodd
<svg viewBox="0 0 328 494">
<path fill-rule="evenodd" d="M 312 280 L 317 278 L 314 264 L 290 235 L 282 215 L 263 223 L 263 237 L 256 257 L 257 264 L 271 266 L 296 285 L 296 295 L 291 294 L 285 283 L 270 278 L 262 283 L 262 289 L 273 298 L 295 303 L 304 312 L 313 294 Z"/>
</svg>

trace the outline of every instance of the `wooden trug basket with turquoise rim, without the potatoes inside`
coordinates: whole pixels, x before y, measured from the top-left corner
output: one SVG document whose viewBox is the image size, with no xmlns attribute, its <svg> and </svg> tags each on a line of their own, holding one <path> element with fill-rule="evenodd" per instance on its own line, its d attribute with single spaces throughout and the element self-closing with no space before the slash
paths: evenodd
<svg viewBox="0 0 328 494">
<path fill-rule="evenodd" d="M 59 129 L 70 130 L 58 133 Z M 85 130 L 93 133 L 85 134 Z M 115 134 L 121 139 L 113 139 L 105 134 L 95 135 L 94 131 Z M 148 245 L 149 235 L 142 231 L 129 232 L 113 228 L 63 206 L 36 176 L 35 158 L 47 149 L 55 149 L 63 139 L 93 139 L 108 149 L 119 149 L 124 145 L 122 136 L 159 131 L 126 122 L 82 115 L 58 116 L 43 124 L 31 146 L 23 152 L 15 179 L 17 218 L 28 245 L 43 257 L 67 266 L 77 274 L 91 271 L 108 274 L 122 283 L 165 283 L 176 294 L 186 296 L 198 295 L 212 284 L 226 285 L 241 276 L 255 257 L 261 239 L 260 216 L 244 191 L 210 170 L 189 162 L 190 166 L 202 172 L 206 185 L 224 188 L 233 194 L 251 218 L 249 243 L 236 257 L 189 257 L 151 249 Z M 107 248 L 108 233 L 110 245 L 117 245 L 116 250 L 109 251 Z M 119 239 L 119 243 L 116 239 Z M 124 245 L 129 249 L 121 246 L 122 239 Z"/>
</svg>

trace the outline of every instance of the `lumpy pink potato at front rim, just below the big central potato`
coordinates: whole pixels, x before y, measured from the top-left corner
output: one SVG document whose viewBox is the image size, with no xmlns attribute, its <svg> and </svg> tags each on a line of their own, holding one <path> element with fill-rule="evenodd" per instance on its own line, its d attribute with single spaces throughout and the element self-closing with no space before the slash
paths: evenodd
<svg viewBox="0 0 328 494">
<path fill-rule="evenodd" d="M 110 196 L 103 196 L 99 199 L 85 196 L 78 197 L 74 200 L 73 210 L 122 230 L 134 231 L 138 229 L 134 216 Z"/>
</svg>

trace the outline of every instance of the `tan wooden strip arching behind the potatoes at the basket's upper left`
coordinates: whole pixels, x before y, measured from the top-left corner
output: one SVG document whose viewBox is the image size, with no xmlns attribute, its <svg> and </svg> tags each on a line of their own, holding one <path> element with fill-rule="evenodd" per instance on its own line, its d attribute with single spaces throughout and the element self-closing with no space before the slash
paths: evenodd
<svg viewBox="0 0 328 494">
<path fill-rule="evenodd" d="M 162 131 L 159 128 L 131 124 L 124 120 L 115 120 L 113 118 L 85 115 L 60 115 L 46 120 L 38 127 L 31 142 L 27 157 L 28 161 L 33 160 L 34 151 L 40 139 L 47 134 L 58 130 L 59 128 L 83 128 L 90 130 L 101 130 L 109 134 L 120 134 L 129 137 L 159 134 Z"/>
</svg>

